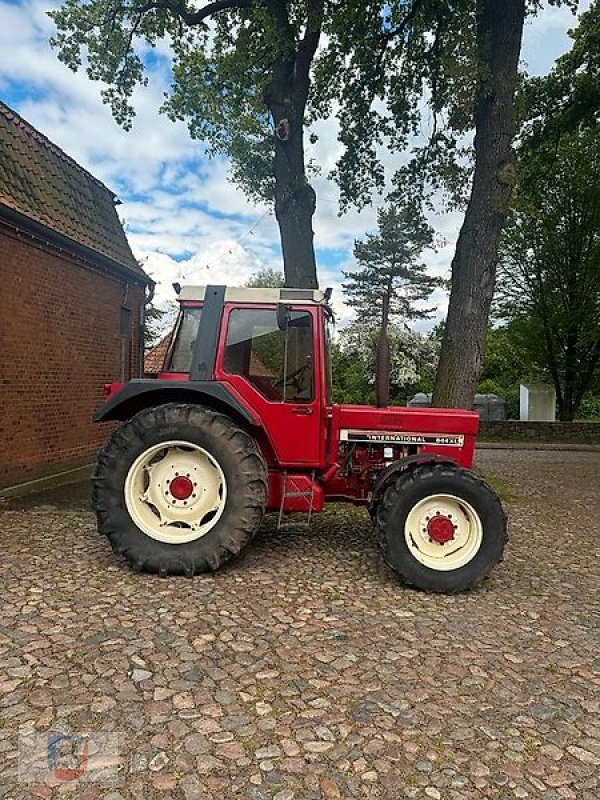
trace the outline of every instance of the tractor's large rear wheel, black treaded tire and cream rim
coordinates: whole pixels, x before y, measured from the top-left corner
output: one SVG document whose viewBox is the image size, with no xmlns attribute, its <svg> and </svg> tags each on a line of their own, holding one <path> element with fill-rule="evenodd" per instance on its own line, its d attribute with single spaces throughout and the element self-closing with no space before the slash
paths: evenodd
<svg viewBox="0 0 600 800">
<path fill-rule="evenodd" d="M 138 571 L 192 576 L 237 556 L 262 520 L 267 469 L 224 414 L 169 403 L 122 423 L 98 455 L 98 528 Z"/>
</svg>

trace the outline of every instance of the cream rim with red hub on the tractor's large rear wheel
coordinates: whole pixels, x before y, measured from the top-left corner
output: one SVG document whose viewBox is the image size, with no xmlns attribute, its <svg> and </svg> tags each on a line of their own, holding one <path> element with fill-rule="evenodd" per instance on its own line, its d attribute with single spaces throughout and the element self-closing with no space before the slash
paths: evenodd
<svg viewBox="0 0 600 800">
<path fill-rule="evenodd" d="M 219 463 L 191 442 L 160 442 L 144 450 L 125 479 L 125 505 L 147 536 L 184 544 L 205 536 L 219 521 L 227 484 Z"/>
</svg>

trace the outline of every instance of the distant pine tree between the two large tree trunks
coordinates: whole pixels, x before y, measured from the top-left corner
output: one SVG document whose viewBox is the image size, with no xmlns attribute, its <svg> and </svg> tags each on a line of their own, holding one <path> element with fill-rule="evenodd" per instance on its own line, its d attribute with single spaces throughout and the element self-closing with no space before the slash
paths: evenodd
<svg viewBox="0 0 600 800">
<path fill-rule="evenodd" d="M 392 321 L 431 316 L 435 309 L 421 304 L 440 281 L 427 275 L 425 264 L 418 260 L 433 243 L 431 227 L 414 208 L 396 205 L 377 212 L 377 227 L 376 234 L 354 242 L 359 268 L 343 273 L 348 279 L 343 284 L 346 302 L 363 323 L 381 323 L 384 297 Z"/>
</svg>

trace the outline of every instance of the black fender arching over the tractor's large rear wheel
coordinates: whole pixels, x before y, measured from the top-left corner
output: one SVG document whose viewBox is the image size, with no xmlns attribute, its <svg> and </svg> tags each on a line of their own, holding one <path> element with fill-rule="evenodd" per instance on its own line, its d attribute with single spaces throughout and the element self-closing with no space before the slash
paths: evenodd
<svg viewBox="0 0 600 800">
<path fill-rule="evenodd" d="M 202 403 L 229 412 L 249 425 L 260 424 L 252 409 L 222 383 L 155 379 L 129 381 L 94 413 L 92 419 L 94 422 L 125 420 L 142 408 L 173 402 Z"/>
</svg>

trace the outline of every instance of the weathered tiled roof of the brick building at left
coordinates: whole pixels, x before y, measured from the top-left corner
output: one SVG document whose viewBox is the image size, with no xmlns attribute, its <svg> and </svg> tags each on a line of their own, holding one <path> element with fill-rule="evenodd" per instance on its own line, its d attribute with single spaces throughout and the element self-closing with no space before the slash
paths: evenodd
<svg viewBox="0 0 600 800">
<path fill-rule="evenodd" d="M 143 275 L 115 199 L 103 183 L 0 102 L 0 206 Z"/>
</svg>

